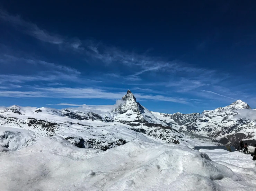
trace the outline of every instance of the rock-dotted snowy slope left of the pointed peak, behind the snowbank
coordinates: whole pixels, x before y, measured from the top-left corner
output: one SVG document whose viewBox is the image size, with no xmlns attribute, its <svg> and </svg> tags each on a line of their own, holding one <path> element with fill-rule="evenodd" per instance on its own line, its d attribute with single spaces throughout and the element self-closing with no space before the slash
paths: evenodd
<svg viewBox="0 0 256 191">
<path fill-rule="evenodd" d="M 130 130 L 127 125 L 107 122 L 91 112 L 82 113 L 67 109 L 57 111 L 15 105 L 1 111 L 0 125 L 0 145 L 12 150 L 19 149 L 23 144 L 28 146 L 40 137 L 51 135 L 60 135 L 78 147 L 101 150 L 125 144 L 136 137 L 151 141 L 144 135 Z M 13 146 L 14 144 L 18 145 Z"/>
</svg>

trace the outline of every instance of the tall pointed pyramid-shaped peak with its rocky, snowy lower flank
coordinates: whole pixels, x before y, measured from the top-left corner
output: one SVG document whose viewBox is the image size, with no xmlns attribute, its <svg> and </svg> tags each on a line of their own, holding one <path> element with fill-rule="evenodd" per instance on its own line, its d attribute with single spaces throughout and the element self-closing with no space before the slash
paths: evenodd
<svg viewBox="0 0 256 191">
<path fill-rule="evenodd" d="M 127 124 L 130 126 L 129 129 L 145 134 L 153 140 L 193 144 L 183 133 L 178 131 L 179 125 L 175 120 L 171 123 L 169 119 L 159 118 L 156 112 L 149 111 L 137 102 L 130 90 L 123 96 L 122 101 L 123 103 L 112 111 L 114 121 Z M 187 115 L 184 114 L 183 117 L 185 120 Z"/>
</svg>

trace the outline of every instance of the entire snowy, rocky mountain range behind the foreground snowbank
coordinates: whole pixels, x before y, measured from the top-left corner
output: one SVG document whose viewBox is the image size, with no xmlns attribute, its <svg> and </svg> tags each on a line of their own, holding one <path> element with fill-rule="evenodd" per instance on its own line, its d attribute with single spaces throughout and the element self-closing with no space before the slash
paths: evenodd
<svg viewBox="0 0 256 191">
<path fill-rule="evenodd" d="M 200 113 L 149 111 L 128 90 L 109 112 L 13 105 L 0 110 L 0 147 L 18 150 L 59 135 L 80 148 L 107 150 L 133 139 L 196 145 L 254 144 L 256 111 L 241 100 Z"/>
</svg>

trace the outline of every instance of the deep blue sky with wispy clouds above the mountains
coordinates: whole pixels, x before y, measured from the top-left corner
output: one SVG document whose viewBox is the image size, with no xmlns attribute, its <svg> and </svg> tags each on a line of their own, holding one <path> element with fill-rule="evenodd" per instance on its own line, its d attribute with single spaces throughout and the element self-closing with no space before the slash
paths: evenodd
<svg viewBox="0 0 256 191">
<path fill-rule="evenodd" d="M 0 1 L 0 105 L 256 107 L 254 1 Z M 66 103 L 67 105 L 63 105 Z M 56 104 L 56 105 L 55 105 Z"/>
</svg>

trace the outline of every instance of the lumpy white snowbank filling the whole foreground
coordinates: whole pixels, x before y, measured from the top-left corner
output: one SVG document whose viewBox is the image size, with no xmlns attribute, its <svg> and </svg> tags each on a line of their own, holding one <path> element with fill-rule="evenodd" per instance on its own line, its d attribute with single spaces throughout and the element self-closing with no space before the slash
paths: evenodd
<svg viewBox="0 0 256 191">
<path fill-rule="evenodd" d="M 1 190 L 256 190 L 250 155 L 133 140 L 100 151 L 59 136 L 0 152 Z M 206 154 L 205 154 L 206 153 Z"/>
</svg>

